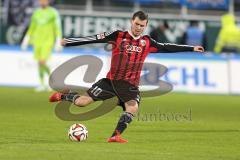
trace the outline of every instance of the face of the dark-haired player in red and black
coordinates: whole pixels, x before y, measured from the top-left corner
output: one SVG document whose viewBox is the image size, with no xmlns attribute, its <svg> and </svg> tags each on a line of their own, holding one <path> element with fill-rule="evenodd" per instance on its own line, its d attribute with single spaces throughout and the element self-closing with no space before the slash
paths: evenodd
<svg viewBox="0 0 240 160">
<path fill-rule="evenodd" d="M 138 17 L 132 20 L 131 31 L 134 36 L 141 35 L 146 27 L 147 27 L 147 20 L 141 20 Z"/>
</svg>

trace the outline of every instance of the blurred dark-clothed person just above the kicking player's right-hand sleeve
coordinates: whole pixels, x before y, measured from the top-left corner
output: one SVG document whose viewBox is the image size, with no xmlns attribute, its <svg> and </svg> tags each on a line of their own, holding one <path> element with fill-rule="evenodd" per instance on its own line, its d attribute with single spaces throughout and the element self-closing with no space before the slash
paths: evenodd
<svg viewBox="0 0 240 160">
<path fill-rule="evenodd" d="M 159 25 L 157 28 L 153 29 L 150 32 L 150 36 L 152 39 L 160 43 L 173 43 L 170 29 L 166 21 L 164 21 L 162 25 Z"/>
</svg>

